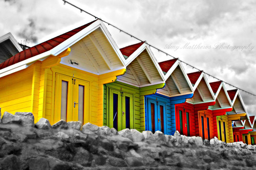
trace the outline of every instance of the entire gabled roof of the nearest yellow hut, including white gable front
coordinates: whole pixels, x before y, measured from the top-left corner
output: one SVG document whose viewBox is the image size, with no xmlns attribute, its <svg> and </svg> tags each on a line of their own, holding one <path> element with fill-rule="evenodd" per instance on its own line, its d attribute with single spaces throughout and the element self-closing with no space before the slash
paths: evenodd
<svg viewBox="0 0 256 170">
<path fill-rule="evenodd" d="M 98 37 L 95 37 L 98 34 L 100 34 L 100 38 L 103 38 L 103 44 L 102 42 L 100 44 Z M 87 42 L 83 41 L 84 39 L 90 42 L 90 45 L 93 46 L 92 49 L 90 49 L 91 46 L 89 47 L 88 44 L 86 44 Z M 76 46 L 74 47 L 74 45 Z M 74 49 L 76 48 L 76 50 L 71 49 L 68 56 L 61 58 L 60 64 L 72 66 L 96 75 L 125 68 L 125 59 L 104 23 L 101 20 L 94 20 L 13 56 L 10 60 L 1 65 L 0 77 L 25 69 L 38 60 L 42 61 L 49 56 L 57 56 L 71 46 L 73 46 Z M 108 47 L 108 51 L 104 51 L 106 47 Z M 78 48 L 80 48 L 80 52 L 78 52 Z M 92 52 L 94 52 L 94 54 L 92 54 Z M 111 54 L 108 54 L 109 52 L 111 52 Z M 80 62 L 90 63 L 91 65 L 81 68 L 80 65 L 70 64 L 68 59 L 70 60 L 70 57 L 74 55 L 74 53 L 78 59 L 82 60 Z M 79 56 L 81 57 L 79 58 Z M 104 64 L 104 67 L 101 66 L 102 64 Z"/>
</svg>

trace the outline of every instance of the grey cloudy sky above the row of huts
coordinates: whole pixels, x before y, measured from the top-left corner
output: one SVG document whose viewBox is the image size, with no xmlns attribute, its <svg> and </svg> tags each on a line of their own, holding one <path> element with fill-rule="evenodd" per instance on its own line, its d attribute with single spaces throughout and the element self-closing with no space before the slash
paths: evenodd
<svg viewBox="0 0 256 170">
<path fill-rule="evenodd" d="M 69 2 L 221 80 L 256 93 L 255 1 Z M 61 0 L 0 0 L 0 36 L 11 32 L 19 42 L 27 39 L 29 46 L 92 20 Z M 108 29 L 119 47 L 138 42 Z M 158 61 L 170 59 L 153 52 Z M 248 113 L 256 115 L 256 97 L 241 94 Z"/>
</svg>

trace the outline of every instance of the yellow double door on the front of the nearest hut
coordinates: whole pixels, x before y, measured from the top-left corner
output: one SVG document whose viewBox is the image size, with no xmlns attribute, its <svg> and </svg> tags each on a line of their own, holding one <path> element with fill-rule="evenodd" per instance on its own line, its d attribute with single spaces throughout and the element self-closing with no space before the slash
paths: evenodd
<svg viewBox="0 0 256 170">
<path fill-rule="evenodd" d="M 89 122 L 89 82 L 56 74 L 54 122 Z"/>
</svg>

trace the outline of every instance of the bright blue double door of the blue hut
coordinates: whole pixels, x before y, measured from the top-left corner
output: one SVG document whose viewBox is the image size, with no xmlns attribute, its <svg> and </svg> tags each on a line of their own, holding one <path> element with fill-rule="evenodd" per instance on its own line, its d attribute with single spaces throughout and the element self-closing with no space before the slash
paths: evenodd
<svg viewBox="0 0 256 170">
<path fill-rule="evenodd" d="M 167 133 L 166 128 L 166 103 L 147 99 L 147 130 Z"/>
</svg>

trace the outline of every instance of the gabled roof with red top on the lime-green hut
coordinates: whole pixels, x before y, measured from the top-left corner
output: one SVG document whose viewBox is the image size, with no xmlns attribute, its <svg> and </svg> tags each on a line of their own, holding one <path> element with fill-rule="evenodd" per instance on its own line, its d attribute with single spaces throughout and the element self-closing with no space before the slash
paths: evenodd
<svg viewBox="0 0 256 170">
<path fill-rule="evenodd" d="M 140 42 L 123 47 L 120 51 L 125 59 L 126 72 L 118 76 L 117 81 L 136 87 L 164 83 L 164 74 L 149 45 Z"/>
</svg>

